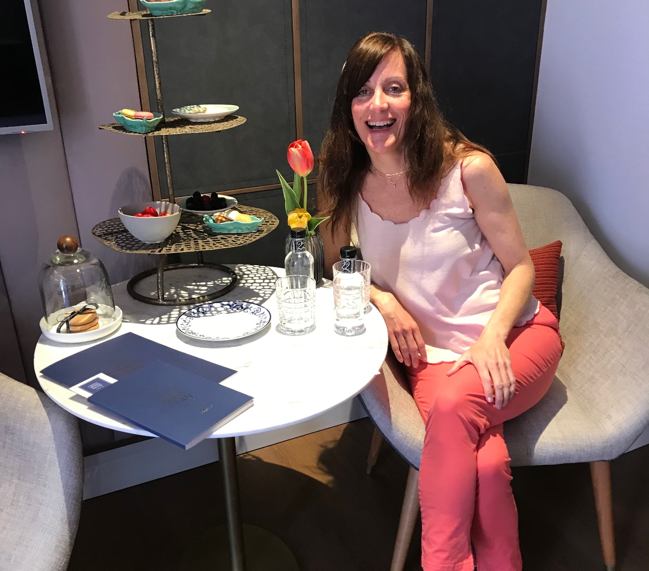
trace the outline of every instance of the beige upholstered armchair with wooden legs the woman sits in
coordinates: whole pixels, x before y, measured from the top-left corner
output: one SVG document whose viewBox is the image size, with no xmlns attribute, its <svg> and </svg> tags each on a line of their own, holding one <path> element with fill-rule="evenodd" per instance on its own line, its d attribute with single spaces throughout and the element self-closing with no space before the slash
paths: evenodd
<svg viewBox="0 0 649 571">
<path fill-rule="evenodd" d="M 505 424 L 514 466 L 589 462 L 607 571 L 615 568 L 609 461 L 649 425 L 649 289 L 618 269 L 570 201 L 556 190 L 510 184 L 528 248 L 563 242 L 561 335 L 565 351 L 547 395 Z M 419 511 L 417 483 L 424 424 L 399 365 L 361 393 L 373 419 L 371 471 L 385 438 L 410 474 L 391 571 L 401 571 Z"/>
</svg>

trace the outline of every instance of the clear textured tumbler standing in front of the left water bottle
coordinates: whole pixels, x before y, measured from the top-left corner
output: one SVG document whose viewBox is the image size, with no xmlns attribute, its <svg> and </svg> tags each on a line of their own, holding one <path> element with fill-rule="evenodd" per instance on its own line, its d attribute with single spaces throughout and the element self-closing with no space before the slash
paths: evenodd
<svg viewBox="0 0 649 571">
<path fill-rule="evenodd" d="M 280 331 L 306 335 L 315 329 L 315 280 L 309 276 L 286 276 L 275 282 Z"/>
</svg>

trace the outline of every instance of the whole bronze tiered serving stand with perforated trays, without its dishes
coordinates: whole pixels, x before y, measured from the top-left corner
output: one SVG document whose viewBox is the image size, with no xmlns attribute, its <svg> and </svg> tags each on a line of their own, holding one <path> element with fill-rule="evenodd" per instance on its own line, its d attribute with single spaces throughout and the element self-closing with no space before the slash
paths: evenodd
<svg viewBox="0 0 649 571">
<path fill-rule="evenodd" d="M 121 20 L 146 20 L 149 27 L 149 42 L 151 43 L 151 59 L 153 61 L 153 77 L 156 86 L 156 103 L 158 112 L 164 117 L 164 103 L 162 101 L 162 85 L 160 82 L 160 66 L 158 65 L 158 46 L 156 43 L 156 31 L 154 21 L 157 18 L 177 18 L 178 16 L 204 16 L 210 10 L 202 10 L 193 14 L 173 14 L 170 16 L 153 16 L 150 12 L 113 12 L 108 15 L 111 19 Z M 219 121 L 210 121 L 207 123 L 193 123 L 183 117 L 164 117 L 158 127 L 149 133 L 134 133 L 126 130 L 119 123 L 110 123 L 108 125 L 99 125 L 100 129 L 121 133 L 125 135 L 135 135 L 139 137 L 162 137 L 162 150 L 164 154 L 165 173 L 167 176 L 167 189 L 169 191 L 169 202 L 175 204 L 176 197 L 173 189 L 173 178 L 171 176 L 171 162 L 169 161 L 169 142 L 167 136 L 180 134 L 210 133 L 223 131 L 238 127 L 245 123 L 245 117 L 239 115 L 227 115 Z M 274 230 L 279 221 L 275 215 L 260 208 L 251 208 L 248 206 L 238 206 L 238 210 L 245 214 L 251 214 L 258 218 L 263 218 L 257 232 L 246 234 L 215 234 L 207 226 L 203 225 L 202 217 L 190 212 L 183 212 L 180 216 L 180 222 L 173 234 L 159 244 L 145 244 L 140 242 L 124 227 L 119 218 L 111 218 L 100 222 L 92 229 L 93 236 L 105 246 L 117 252 L 126 254 L 160 254 L 157 269 L 151 269 L 133 276 L 128 285 L 129 294 L 135 299 L 149 304 L 161 306 L 183 306 L 197 303 L 204 303 L 221 297 L 232 291 L 236 287 L 238 277 L 236 273 L 221 264 L 208 263 L 203 260 L 202 252 L 206 250 L 219 250 L 223 248 L 234 248 L 243 246 L 266 236 Z M 167 254 L 179 254 L 181 252 L 196 252 L 197 263 L 167 263 Z M 164 297 L 164 273 L 168 270 L 178 270 L 186 268 L 210 267 L 220 270 L 230 276 L 230 283 L 218 291 L 190 298 L 171 298 Z M 138 282 L 157 274 L 157 296 L 149 297 L 138 293 L 135 286 Z"/>
</svg>

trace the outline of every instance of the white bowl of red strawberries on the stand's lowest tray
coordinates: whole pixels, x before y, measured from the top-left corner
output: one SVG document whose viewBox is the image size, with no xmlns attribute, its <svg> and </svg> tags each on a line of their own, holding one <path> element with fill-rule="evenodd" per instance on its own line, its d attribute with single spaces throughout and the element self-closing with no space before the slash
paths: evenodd
<svg viewBox="0 0 649 571">
<path fill-rule="evenodd" d="M 178 226 L 180 206 L 170 202 L 136 202 L 119 209 L 119 218 L 129 232 L 145 244 L 162 242 Z"/>
</svg>

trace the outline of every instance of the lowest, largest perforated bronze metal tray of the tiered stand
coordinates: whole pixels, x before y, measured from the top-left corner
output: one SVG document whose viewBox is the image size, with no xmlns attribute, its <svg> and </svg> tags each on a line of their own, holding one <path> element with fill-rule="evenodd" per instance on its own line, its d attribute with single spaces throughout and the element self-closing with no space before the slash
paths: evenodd
<svg viewBox="0 0 649 571">
<path fill-rule="evenodd" d="M 147 244 L 138 240 L 124 227 L 119 218 L 100 222 L 92 229 L 92 235 L 104 246 L 126 254 L 180 254 L 182 252 L 202 252 L 220 250 L 250 244 L 272 230 L 279 221 L 277 217 L 261 208 L 237 205 L 237 210 L 263 218 L 257 232 L 245 234 L 216 234 L 202 222 L 202 218 L 191 212 L 182 212 L 180 222 L 173 234 L 159 244 Z"/>
</svg>

